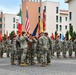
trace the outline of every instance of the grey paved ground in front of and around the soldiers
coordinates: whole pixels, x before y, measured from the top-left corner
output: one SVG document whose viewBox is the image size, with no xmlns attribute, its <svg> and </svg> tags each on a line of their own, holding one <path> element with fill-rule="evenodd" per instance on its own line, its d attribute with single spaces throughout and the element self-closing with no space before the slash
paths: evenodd
<svg viewBox="0 0 76 75">
<path fill-rule="evenodd" d="M 47 67 L 40 67 L 38 64 L 20 67 L 10 65 L 9 58 L 0 58 L 0 75 L 76 75 L 76 58 L 54 57 Z"/>
</svg>

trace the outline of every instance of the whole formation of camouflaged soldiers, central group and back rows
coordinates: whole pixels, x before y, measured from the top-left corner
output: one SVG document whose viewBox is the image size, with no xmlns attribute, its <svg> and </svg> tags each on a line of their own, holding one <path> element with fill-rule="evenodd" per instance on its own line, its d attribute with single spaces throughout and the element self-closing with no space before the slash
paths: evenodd
<svg viewBox="0 0 76 75">
<path fill-rule="evenodd" d="M 0 41 L 0 57 L 5 52 L 7 57 L 11 55 L 11 65 L 14 65 L 15 60 L 17 60 L 20 66 L 40 64 L 45 67 L 51 64 L 51 57 L 54 56 L 55 52 L 57 58 L 60 58 L 60 52 L 62 52 L 63 58 L 67 58 L 67 51 L 70 58 L 75 51 L 76 57 L 76 40 L 72 42 L 72 39 L 66 41 L 64 38 L 64 41 L 61 41 L 59 37 L 55 40 L 44 32 L 40 33 L 38 37 L 33 37 L 31 34 L 27 36 L 25 32 L 22 32 L 18 36 L 13 36 L 13 40 L 8 38 Z"/>
</svg>

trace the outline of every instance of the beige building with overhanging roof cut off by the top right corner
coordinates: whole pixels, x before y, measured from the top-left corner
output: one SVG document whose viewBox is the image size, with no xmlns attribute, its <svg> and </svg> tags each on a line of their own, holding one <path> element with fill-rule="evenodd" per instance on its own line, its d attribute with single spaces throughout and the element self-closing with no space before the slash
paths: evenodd
<svg viewBox="0 0 76 75">
<path fill-rule="evenodd" d="M 69 8 L 69 26 L 73 25 L 73 29 L 76 31 L 76 0 L 65 0 L 65 3 L 68 3 Z"/>
</svg>

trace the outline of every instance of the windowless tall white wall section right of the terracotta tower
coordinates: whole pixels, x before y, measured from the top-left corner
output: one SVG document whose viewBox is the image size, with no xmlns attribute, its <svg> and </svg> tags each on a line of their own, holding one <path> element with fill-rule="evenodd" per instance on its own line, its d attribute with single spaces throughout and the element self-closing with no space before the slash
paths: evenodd
<svg viewBox="0 0 76 75">
<path fill-rule="evenodd" d="M 59 14 L 56 14 L 56 7 L 60 8 L 59 2 L 43 2 L 42 8 L 46 6 L 46 32 L 48 32 L 49 36 L 51 34 L 55 33 L 56 31 L 56 15 L 59 16 Z"/>
</svg>

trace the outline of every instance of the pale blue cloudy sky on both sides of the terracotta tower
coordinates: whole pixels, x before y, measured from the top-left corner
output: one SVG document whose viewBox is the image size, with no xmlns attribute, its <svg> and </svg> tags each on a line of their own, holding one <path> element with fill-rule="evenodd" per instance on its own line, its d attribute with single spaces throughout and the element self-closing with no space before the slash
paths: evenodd
<svg viewBox="0 0 76 75">
<path fill-rule="evenodd" d="M 64 0 L 47 0 L 60 2 L 60 9 L 68 9 L 68 5 L 64 3 Z M 0 0 L 0 10 L 4 13 L 17 14 L 21 5 L 21 0 Z"/>
</svg>

